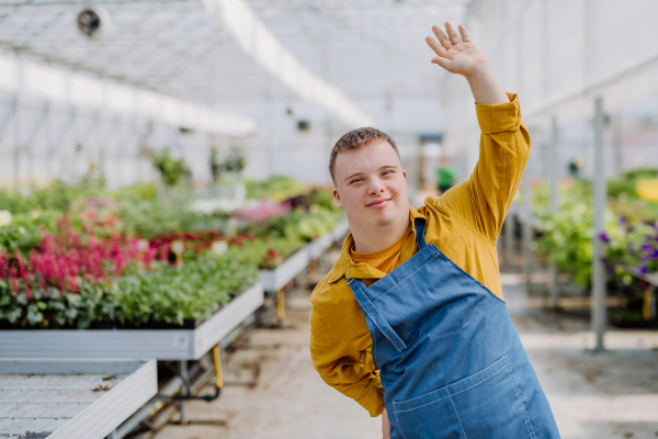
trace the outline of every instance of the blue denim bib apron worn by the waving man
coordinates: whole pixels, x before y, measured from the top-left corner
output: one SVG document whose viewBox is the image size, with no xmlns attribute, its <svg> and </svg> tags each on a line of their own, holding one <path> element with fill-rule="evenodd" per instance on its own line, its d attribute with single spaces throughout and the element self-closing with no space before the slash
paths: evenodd
<svg viewBox="0 0 658 439">
<path fill-rule="evenodd" d="M 392 439 L 559 438 L 507 306 L 427 244 L 366 288 L 348 279 L 379 369 Z"/>
</svg>

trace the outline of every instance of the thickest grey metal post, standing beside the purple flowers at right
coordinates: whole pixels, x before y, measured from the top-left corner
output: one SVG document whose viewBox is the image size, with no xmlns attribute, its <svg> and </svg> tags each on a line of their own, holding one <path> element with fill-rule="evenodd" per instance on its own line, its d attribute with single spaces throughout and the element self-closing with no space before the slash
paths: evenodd
<svg viewBox="0 0 658 439">
<path fill-rule="evenodd" d="M 592 252 L 592 330 L 597 336 L 594 351 L 604 350 L 603 335 L 605 333 L 605 269 L 601 260 L 603 243 L 601 234 L 604 232 L 605 215 L 605 159 L 603 150 L 603 98 L 594 100 L 594 236 Z"/>
</svg>

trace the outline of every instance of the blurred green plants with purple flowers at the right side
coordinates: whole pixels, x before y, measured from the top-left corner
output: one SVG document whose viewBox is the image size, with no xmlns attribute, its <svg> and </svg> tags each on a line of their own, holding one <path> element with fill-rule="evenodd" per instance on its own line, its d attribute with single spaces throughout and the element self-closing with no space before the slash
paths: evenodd
<svg viewBox="0 0 658 439">
<path fill-rule="evenodd" d="M 643 278 L 658 273 L 657 179 L 658 169 L 643 168 L 608 181 L 605 232 L 597 238 L 604 243 L 609 285 L 626 294 L 631 302 L 644 294 Z M 560 182 L 557 212 L 551 212 L 549 194 L 546 182 L 533 187 L 532 211 L 537 230 L 533 245 L 560 272 L 569 274 L 571 282 L 587 289 L 591 283 L 593 239 L 591 182 Z M 642 312 L 633 315 L 621 309 L 616 315 L 620 323 L 643 319 Z M 615 319 L 615 313 L 612 317 Z"/>
</svg>

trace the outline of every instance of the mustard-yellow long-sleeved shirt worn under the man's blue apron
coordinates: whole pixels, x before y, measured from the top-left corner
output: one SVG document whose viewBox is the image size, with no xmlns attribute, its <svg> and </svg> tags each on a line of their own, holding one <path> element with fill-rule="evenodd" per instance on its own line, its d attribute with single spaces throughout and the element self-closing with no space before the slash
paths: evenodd
<svg viewBox="0 0 658 439">
<path fill-rule="evenodd" d="M 400 263 L 417 250 L 413 218 L 423 217 L 426 238 L 447 258 L 502 299 L 496 239 L 521 181 L 530 154 L 530 135 L 521 122 L 515 94 L 509 103 L 475 105 L 480 126 L 479 160 L 470 178 L 424 206 L 409 207 L 411 226 L 405 235 Z M 347 279 L 386 275 L 366 262 L 352 260 L 348 235 L 333 269 L 310 297 L 310 354 L 322 380 L 355 399 L 371 416 L 384 410 L 379 372 L 371 353 L 365 317 Z"/>
</svg>

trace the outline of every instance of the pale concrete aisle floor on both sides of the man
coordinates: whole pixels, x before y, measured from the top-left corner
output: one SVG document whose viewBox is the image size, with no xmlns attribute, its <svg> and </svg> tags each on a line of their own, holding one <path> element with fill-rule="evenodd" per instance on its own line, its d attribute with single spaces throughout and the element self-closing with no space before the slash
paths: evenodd
<svg viewBox="0 0 658 439">
<path fill-rule="evenodd" d="M 609 351 L 593 353 L 589 322 L 548 312 L 529 299 L 517 274 L 502 275 L 508 308 L 565 439 L 658 437 L 658 334 L 608 333 Z M 193 402 L 191 424 L 168 425 L 157 439 L 381 438 L 381 421 L 327 386 L 308 352 L 308 290 L 288 301 L 284 329 L 256 330 L 227 367 L 228 385 L 213 403 Z"/>
</svg>

